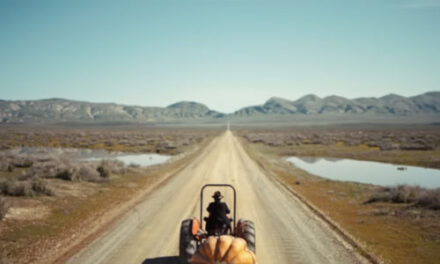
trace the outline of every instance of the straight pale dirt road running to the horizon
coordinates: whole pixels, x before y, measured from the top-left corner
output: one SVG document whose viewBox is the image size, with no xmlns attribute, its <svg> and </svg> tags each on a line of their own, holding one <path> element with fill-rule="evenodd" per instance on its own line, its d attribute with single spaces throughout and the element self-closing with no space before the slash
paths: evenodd
<svg viewBox="0 0 440 264">
<path fill-rule="evenodd" d="M 264 175 L 227 131 L 68 263 L 178 263 L 180 222 L 199 216 L 199 192 L 206 183 L 236 187 L 238 218 L 256 225 L 260 264 L 364 262 L 300 201 Z M 207 203 L 214 191 L 207 190 Z M 232 207 L 231 192 L 221 191 Z"/>
</svg>

